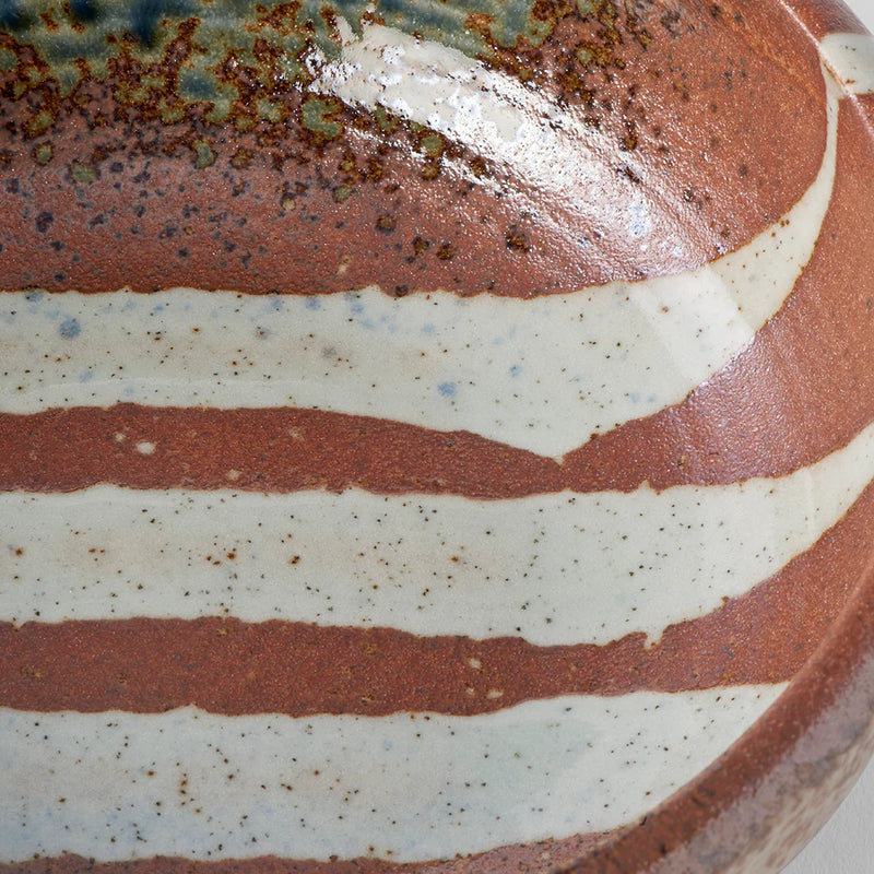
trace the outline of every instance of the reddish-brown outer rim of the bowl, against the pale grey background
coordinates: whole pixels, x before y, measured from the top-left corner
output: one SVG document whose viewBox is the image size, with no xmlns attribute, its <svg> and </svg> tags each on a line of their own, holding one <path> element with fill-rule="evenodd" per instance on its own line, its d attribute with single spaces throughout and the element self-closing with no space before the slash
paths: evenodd
<svg viewBox="0 0 874 874">
<path fill-rule="evenodd" d="M 815 45 L 838 31 L 871 35 L 842 0 L 769 2 Z M 857 102 L 843 91 L 843 99 Z M 871 138 L 874 142 L 874 128 Z M 872 489 L 874 483 L 865 491 Z M 768 855 L 768 867 L 756 867 L 757 874 L 788 864 L 837 810 L 874 755 L 872 617 L 874 548 L 817 648 L 763 716 L 672 796 L 559 870 L 744 871 L 749 852 Z M 793 810 L 792 800 L 810 793 L 817 803 Z"/>
</svg>

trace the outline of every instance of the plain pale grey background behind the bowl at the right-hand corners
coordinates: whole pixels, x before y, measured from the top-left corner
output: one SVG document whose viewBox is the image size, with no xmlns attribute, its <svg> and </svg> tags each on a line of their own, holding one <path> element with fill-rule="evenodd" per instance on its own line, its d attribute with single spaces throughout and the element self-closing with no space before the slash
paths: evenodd
<svg viewBox="0 0 874 874">
<path fill-rule="evenodd" d="M 874 33 L 874 0 L 845 0 Z M 874 168 L 872 168 L 874 173 Z M 874 874 L 874 764 L 783 874 Z M 751 872 L 755 874 L 755 872 Z"/>
</svg>

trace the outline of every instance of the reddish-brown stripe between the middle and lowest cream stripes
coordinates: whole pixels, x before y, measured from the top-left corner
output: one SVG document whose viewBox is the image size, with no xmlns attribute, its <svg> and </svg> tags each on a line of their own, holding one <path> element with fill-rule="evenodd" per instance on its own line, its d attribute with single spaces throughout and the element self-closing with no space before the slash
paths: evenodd
<svg viewBox="0 0 874 874">
<path fill-rule="evenodd" d="M 234 618 L 0 624 L 0 706 L 223 714 L 473 714 L 570 694 L 681 692 L 790 680 L 870 560 L 874 485 L 804 555 L 746 595 L 607 646 L 416 637 Z"/>
</svg>

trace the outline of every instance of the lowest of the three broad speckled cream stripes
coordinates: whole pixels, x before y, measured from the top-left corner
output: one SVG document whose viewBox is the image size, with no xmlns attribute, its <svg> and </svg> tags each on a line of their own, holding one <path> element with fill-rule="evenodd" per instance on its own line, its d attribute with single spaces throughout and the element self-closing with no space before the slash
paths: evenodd
<svg viewBox="0 0 874 874">
<path fill-rule="evenodd" d="M 0 710 L 0 861 L 420 861 L 610 829 L 693 778 L 782 689 L 569 697 L 468 718 Z"/>
</svg>

